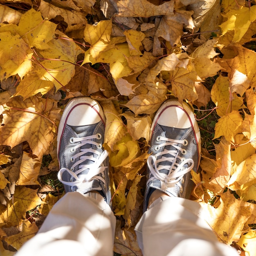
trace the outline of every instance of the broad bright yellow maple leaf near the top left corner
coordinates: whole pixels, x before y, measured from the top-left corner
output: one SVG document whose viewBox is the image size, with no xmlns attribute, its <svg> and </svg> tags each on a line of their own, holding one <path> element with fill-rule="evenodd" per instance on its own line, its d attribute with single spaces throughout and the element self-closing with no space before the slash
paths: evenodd
<svg viewBox="0 0 256 256">
<path fill-rule="evenodd" d="M 55 37 L 56 27 L 53 22 L 43 20 L 39 11 L 31 8 L 21 16 L 17 31 L 29 47 L 47 49 L 47 43 Z"/>
</svg>

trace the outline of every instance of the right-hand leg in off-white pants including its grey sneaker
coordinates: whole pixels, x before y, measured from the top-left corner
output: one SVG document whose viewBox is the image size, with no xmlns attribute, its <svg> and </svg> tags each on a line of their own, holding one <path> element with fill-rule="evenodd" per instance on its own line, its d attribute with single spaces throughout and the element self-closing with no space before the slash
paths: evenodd
<svg viewBox="0 0 256 256">
<path fill-rule="evenodd" d="M 190 201 L 190 171 L 200 160 L 200 133 L 192 110 L 176 100 L 157 111 L 150 131 L 144 214 L 135 230 L 144 256 L 233 256 L 236 250 L 219 243 Z M 149 206 L 149 207 L 148 207 Z"/>
</svg>

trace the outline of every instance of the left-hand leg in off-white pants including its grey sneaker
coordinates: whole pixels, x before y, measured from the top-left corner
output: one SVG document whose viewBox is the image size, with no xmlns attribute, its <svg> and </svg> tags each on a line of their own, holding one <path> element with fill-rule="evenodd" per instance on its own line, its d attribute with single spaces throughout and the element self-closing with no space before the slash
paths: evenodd
<svg viewBox="0 0 256 256">
<path fill-rule="evenodd" d="M 88 97 L 76 98 L 65 108 L 57 150 L 58 178 L 66 195 L 18 256 L 112 255 L 115 216 L 110 207 L 108 154 L 101 147 L 104 126 L 101 107 Z"/>
</svg>

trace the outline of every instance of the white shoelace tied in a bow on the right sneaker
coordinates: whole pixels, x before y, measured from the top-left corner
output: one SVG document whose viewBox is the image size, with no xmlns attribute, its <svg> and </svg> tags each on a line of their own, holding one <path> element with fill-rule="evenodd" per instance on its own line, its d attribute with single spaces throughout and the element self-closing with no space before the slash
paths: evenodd
<svg viewBox="0 0 256 256">
<path fill-rule="evenodd" d="M 155 156 L 150 155 L 148 157 L 148 168 L 150 172 L 153 174 L 153 177 L 148 179 L 148 182 L 151 180 L 160 180 L 164 182 L 166 187 L 173 187 L 177 184 L 182 192 L 182 186 L 179 183 L 182 180 L 183 176 L 186 173 L 189 173 L 191 169 L 194 167 L 193 159 L 184 159 L 183 157 L 179 156 L 179 151 L 182 154 L 186 153 L 186 150 L 178 146 L 178 144 L 182 144 L 186 146 L 188 144 L 187 140 L 177 140 L 177 139 L 168 139 L 162 136 L 157 137 L 157 141 L 166 141 L 163 144 L 157 145 L 155 150 L 159 150 L 159 148 L 164 146 L 173 146 L 174 150 L 167 150 L 164 149 L 162 152 L 155 154 Z M 164 155 L 169 154 L 171 157 L 165 157 Z M 157 160 L 158 156 L 162 156 Z M 180 159 L 181 163 L 177 163 L 177 160 Z M 171 165 L 160 165 L 157 167 L 158 163 L 168 161 Z M 152 164 L 153 162 L 153 164 Z M 191 165 L 188 168 L 183 168 L 185 164 L 190 163 Z M 168 174 L 161 173 L 161 170 L 166 169 L 169 170 Z M 183 183 L 183 182 L 182 182 Z"/>
</svg>

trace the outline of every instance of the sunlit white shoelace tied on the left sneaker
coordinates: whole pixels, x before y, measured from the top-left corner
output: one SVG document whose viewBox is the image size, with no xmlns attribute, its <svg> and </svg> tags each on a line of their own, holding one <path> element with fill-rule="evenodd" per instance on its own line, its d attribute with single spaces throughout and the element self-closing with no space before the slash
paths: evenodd
<svg viewBox="0 0 256 256">
<path fill-rule="evenodd" d="M 100 139 L 100 138 L 101 138 L 100 134 L 87 136 L 87 137 L 81 137 L 81 138 L 70 138 L 70 143 L 81 142 L 77 146 L 74 146 L 74 148 L 72 148 L 72 150 L 74 151 L 77 148 L 81 148 L 85 144 L 96 145 L 98 148 L 101 148 L 101 144 L 91 140 L 91 139 Z M 91 155 L 85 155 L 86 153 L 91 153 Z M 93 156 L 93 153 L 98 155 L 99 158 L 95 158 Z M 101 164 L 106 159 L 106 157 L 108 157 L 108 152 L 106 150 L 104 150 L 103 153 L 101 154 L 97 150 L 94 150 L 92 147 L 82 148 L 79 153 L 77 153 L 73 157 L 71 157 L 70 161 L 74 162 L 74 160 L 78 157 L 79 157 L 79 160 L 71 166 L 70 170 L 67 168 L 61 168 L 60 171 L 58 172 L 58 179 L 63 184 L 68 185 L 68 186 L 77 186 L 78 188 L 80 188 L 83 183 L 94 180 L 94 179 L 101 180 L 104 184 L 106 184 L 105 180 L 102 177 L 98 176 L 100 173 L 102 173 L 107 168 L 106 166 L 101 166 Z M 86 160 L 91 160 L 94 163 L 93 164 L 82 164 Z M 77 165 L 79 165 L 79 169 L 77 171 L 73 172 L 74 168 Z M 86 169 L 89 169 L 88 174 L 79 175 L 79 173 L 85 171 Z M 67 182 L 62 179 L 62 175 L 65 171 L 67 171 L 74 178 L 74 181 Z"/>
</svg>

